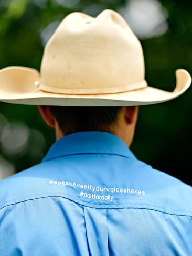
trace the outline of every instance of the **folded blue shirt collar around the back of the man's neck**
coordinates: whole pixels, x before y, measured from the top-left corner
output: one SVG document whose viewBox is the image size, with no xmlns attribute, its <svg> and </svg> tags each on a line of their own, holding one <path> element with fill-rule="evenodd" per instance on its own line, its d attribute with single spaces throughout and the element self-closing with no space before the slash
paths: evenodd
<svg viewBox="0 0 192 256">
<path fill-rule="evenodd" d="M 109 132 L 86 131 L 61 137 L 52 144 L 42 162 L 76 154 L 112 154 L 136 159 L 120 137 Z"/>
</svg>

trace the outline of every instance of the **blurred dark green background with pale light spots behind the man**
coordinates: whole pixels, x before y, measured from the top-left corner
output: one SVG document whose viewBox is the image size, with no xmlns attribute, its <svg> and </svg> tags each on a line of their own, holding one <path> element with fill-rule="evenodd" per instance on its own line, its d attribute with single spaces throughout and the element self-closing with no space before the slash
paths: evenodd
<svg viewBox="0 0 192 256">
<path fill-rule="evenodd" d="M 192 4 L 157 0 L 0 0 L 0 68 L 40 69 L 47 40 L 71 12 L 118 11 L 142 42 L 146 80 L 173 91 L 175 70 L 192 74 Z M 192 185 L 192 89 L 141 106 L 131 150 L 137 158 Z M 55 141 L 36 106 L 0 103 L 0 179 L 38 164 Z"/>
</svg>

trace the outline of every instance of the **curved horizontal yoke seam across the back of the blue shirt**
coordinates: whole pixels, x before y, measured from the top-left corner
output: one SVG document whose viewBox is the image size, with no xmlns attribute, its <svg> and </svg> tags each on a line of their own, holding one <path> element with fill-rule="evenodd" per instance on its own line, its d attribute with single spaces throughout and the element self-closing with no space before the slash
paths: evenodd
<svg viewBox="0 0 192 256">
<path fill-rule="evenodd" d="M 61 198 L 67 198 L 67 197 L 62 197 L 62 196 L 44 196 L 44 197 L 38 197 L 38 198 L 30 198 L 30 199 L 26 199 L 26 200 L 23 200 L 23 201 L 19 201 L 19 202 L 14 202 L 13 204 L 8 204 L 8 205 L 5 205 L 3 206 L 2 208 L 0 208 L 0 210 L 2 210 L 3 208 L 5 207 L 8 207 L 8 206 L 12 206 L 12 205 L 17 205 L 17 204 L 20 204 L 22 202 L 26 202 L 26 201 L 31 201 L 31 200 L 37 200 L 37 199 L 42 199 L 42 198 L 50 198 L 50 197 L 61 197 Z M 78 205 L 81 205 L 84 207 L 83 204 L 80 204 L 79 202 L 77 201 L 74 201 L 72 199 L 69 199 L 67 198 L 68 200 L 70 201 L 73 201 L 75 202 L 76 204 Z M 94 208 L 95 207 L 91 207 L 91 206 L 86 206 L 86 207 L 89 207 L 89 208 Z M 192 215 L 185 215 L 185 214 L 171 214 L 170 212 L 165 212 L 165 211 L 161 211 L 161 210 L 157 210 L 157 209 L 151 209 L 151 208 L 146 208 L 146 207 L 130 207 L 130 206 L 127 206 L 127 207 L 121 207 L 121 208 L 97 208 L 97 209 L 141 209 L 141 210 L 151 210 L 151 211 L 157 211 L 157 212 L 161 212 L 162 214 L 167 214 L 167 215 L 173 215 L 173 216 L 185 216 L 185 217 L 192 217 Z"/>
</svg>

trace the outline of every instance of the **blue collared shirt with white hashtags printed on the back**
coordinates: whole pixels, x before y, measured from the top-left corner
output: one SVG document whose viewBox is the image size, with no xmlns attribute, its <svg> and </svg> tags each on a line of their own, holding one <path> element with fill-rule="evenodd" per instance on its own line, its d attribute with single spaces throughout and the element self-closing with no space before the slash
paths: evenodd
<svg viewBox="0 0 192 256">
<path fill-rule="evenodd" d="M 191 199 L 118 136 L 72 133 L 0 182 L 0 255 L 189 256 Z"/>
</svg>

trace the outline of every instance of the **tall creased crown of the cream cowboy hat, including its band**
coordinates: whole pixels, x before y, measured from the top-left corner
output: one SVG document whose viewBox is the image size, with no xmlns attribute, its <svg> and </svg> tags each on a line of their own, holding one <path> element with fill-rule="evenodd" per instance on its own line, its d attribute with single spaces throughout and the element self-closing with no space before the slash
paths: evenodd
<svg viewBox="0 0 192 256">
<path fill-rule="evenodd" d="M 147 87 L 143 50 L 124 18 L 106 9 L 96 18 L 66 16 L 47 42 L 41 61 L 42 91 L 102 94 Z"/>
</svg>

